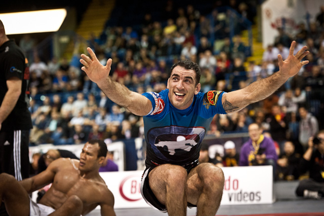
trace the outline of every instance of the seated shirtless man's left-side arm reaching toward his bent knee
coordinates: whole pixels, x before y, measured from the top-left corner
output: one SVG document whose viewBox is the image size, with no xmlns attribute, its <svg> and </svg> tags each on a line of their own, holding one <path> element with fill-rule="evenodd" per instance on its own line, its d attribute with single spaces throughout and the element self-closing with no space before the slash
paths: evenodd
<svg viewBox="0 0 324 216">
<path fill-rule="evenodd" d="M 27 193 L 32 193 L 33 191 L 47 186 L 48 184 L 53 182 L 57 168 L 60 165 L 63 166 L 63 160 L 66 159 L 60 158 L 53 161 L 43 172 L 20 181 L 20 185 L 27 191 Z"/>
</svg>

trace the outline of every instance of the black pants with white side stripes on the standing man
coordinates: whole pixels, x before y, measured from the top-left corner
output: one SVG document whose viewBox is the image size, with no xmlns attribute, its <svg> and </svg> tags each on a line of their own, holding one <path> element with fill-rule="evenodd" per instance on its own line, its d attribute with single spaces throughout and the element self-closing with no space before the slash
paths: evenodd
<svg viewBox="0 0 324 216">
<path fill-rule="evenodd" d="M 0 173 L 15 176 L 18 181 L 29 175 L 29 130 L 0 131 Z M 2 202 L 0 216 L 8 215 Z"/>
</svg>

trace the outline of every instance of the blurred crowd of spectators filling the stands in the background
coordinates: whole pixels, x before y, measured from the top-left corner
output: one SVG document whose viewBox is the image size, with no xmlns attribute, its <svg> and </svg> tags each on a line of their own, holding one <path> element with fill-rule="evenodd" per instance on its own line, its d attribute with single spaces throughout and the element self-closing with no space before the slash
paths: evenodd
<svg viewBox="0 0 324 216">
<path fill-rule="evenodd" d="M 166 10 L 173 7 L 172 1 L 167 4 L 171 5 L 167 5 Z M 247 5 L 239 5 L 232 7 L 233 10 L 246 16 Z M 100 37 L 91 34 L 88 45 L 102 64 L 112 58 L 109 75 L 112 79 L 138 93 L 165 89 L 169 68 L 180 59 L 199 64 L 203 92 L 244 88 L 277 71 L 277 54 L 287 58 L 292 40 L 298 43 L 296 50 L 307 45 L 309 64 L 297 76 L 263 101 L 238 113 L 216 115 L 207 132 L 216 137 L 224 133 L 248 133 L 248 126 L 256 122 L 268 132 L 269 139 L 277 143 L 280 159 L 285 154 L 292 154 L 291 144 L 293 153 L 302 155 L 308 148 L 308 138 L 324 127 L 324 22 L 320 16 L 309 26 L 300 25 L 296 35 L 278 28 L 278 37 L 267 47 L 262 62 L 251 61 L 244 66 L 247 45 L 242 43 L 240 32 L 232 39 L 228 37 L 226 14 L 214 11 L 207 17 L 192 5 L 171 11 L 173 13 L 164 21 L 155 21 L 147 13 L 139 26 L 107 26 Z M 215 28 L 210 27 L 211 19 L 214 19 Z M 214 33 L 222 44 L 219 49 L 210 40 Z M 30 38 L 26 37 L 21 46 L 30 44 Z M 79 45 L 76 40 L 75 50 L 79 50 Z M 76 52 L 74 58 L 79 58 L 79 53 Z M 83 143 L 94 138 L 112 142 L 143 137 L 143 118 L 110 101 L 75 61 L 54 57 L 45 62 L 37 53 L 32 59 L 29 108 L 34 125 L 30 135 L 32 145 Z M 283 163 L 280 159 L 278 164 Z"/>
</svg>

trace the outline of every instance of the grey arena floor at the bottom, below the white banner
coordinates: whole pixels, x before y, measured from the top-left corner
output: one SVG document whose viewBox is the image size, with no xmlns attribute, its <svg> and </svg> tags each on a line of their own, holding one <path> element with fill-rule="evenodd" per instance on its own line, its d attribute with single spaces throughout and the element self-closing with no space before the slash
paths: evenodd
<svg viewBox="0 0 324 216">
<path fill-rule="evenodd" d="M 254 179 L 253 181 L 257 181 Z M 217 215 L 254 215 L 254 216 L 324 216 L 324 199 L 302 199 L 295 196 L 298 182 L 274 183 L 276 201 L 272 204 L 258 205 L 224 205 L 220 206 Z M 152 208 L 115 209 L 118 216 L 166 216 Z M 196 214 L 196 208 L 187 210 L 187 215 Z M 100 210 L 94 210 L 87 215 L 100 215 Z"/>
</svg>

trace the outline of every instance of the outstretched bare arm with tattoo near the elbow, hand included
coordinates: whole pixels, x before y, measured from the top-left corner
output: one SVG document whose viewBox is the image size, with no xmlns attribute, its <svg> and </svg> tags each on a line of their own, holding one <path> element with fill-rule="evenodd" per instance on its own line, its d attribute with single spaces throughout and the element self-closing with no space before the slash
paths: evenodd
<svg viewBox="0 0 324 216">
<path fill-rule="evenodd" d="M 278 54 L 279 71 L 277 73 L 251 83 L 244 89 L 224 94 L 222 104 L 226 113 L 239 111 L 251 103 L 265 99 L 282 86 L 290 77 L 295 76 L 303 65 L 308 64 L 308 60 L 301 61 L 309 53 L 309 51 L 306 51 L 307 47 L 304 46 L 294 55 L 295 45 L 296 42 L 293 41 L 290 46 L 289 56 L 285 61 Z"/>
</svg>

